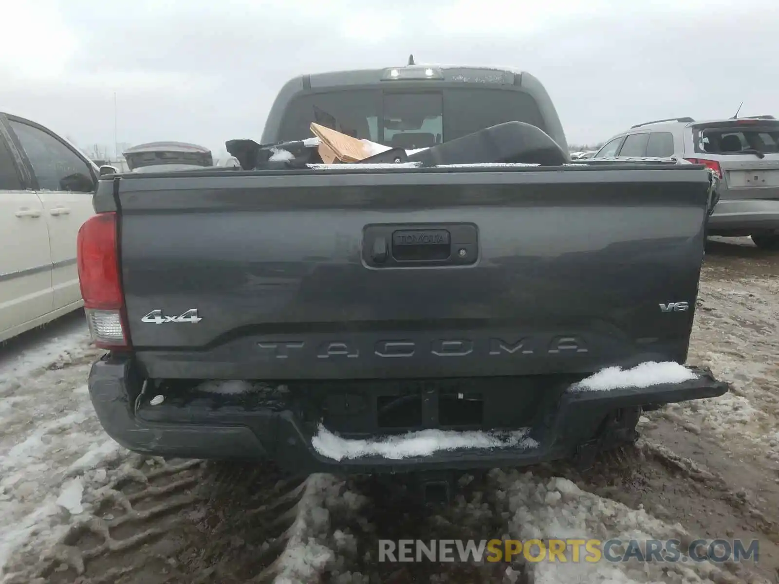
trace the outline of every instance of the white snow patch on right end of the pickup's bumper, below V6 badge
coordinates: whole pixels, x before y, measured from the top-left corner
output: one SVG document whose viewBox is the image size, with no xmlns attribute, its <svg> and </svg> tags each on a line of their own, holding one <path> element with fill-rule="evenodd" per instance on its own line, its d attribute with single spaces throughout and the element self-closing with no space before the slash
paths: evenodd
<svg viewBox="0 0 779 584">
<path fill-rule="evenodd" d="M 607 367 L 571 385 L 572 392 L 607 392 L 622 387 L 650 387 L 663 383 L 682 383 L 698 376 L 674 361 L 647 361 L 629 369 Z"/>
</svg>

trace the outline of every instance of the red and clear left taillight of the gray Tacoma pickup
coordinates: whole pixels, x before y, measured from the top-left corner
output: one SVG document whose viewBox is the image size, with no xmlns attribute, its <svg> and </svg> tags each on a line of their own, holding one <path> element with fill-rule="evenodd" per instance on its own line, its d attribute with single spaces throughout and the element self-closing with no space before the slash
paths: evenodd
<svg viewBox="0 0 779 584">
<path fill-rule="evenodd" d="M 93 342 L 103 349 L 128 348 L 116 213 L 98 213 L 86 220 L 76 240 L 76 259 Z"/>
</svg>

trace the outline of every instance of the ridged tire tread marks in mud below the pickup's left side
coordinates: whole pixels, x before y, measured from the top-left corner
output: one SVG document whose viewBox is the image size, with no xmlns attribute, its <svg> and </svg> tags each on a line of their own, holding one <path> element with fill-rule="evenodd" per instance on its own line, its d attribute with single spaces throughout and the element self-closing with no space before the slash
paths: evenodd
<svg viewBox="0 0 779 584">
<path fill-rule="evenodd" d="M 133 456 L 108 470 L 107 484 L 85 492 L 93 512 L 41 561 L 19 558 L 17 565 L 35 568 L 8 582 L 245 582 L 280 554 L 273 542 L 296 517 L 304 485 L 279 477 L 258 465 Z"/>
</svg>

